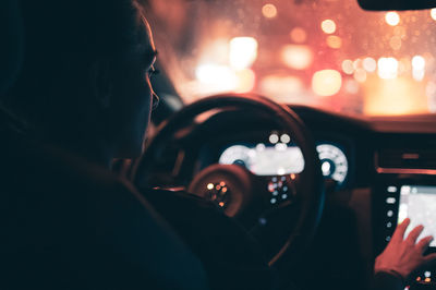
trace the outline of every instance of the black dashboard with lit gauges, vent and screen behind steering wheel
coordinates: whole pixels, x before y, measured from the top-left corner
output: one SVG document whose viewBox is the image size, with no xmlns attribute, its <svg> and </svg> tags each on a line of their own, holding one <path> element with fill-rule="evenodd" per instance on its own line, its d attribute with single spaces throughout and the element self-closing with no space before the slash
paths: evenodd
<svg viewBox="0 0 436 290">
<path fill-rule="evenodd" d="M 326 192 L 323 221 L 302 269 L 318 273 L 320 280 L 340 273 L 341 281 L 355 281 L 363 267 L 362 280 L 371 280 L 374 257 L 399 221 L 410 217 L 413 225 L 426 226 L 424 234 L 436 235 L 436 116 L 360 119 L 291 108 L 313 134 L 323 174 L 339 184 Z M 162 173 L 156 170 L 157 184 L 186 185 L 215 164 L 240 165 L 271 181 L 304 170 L 304 158 L 290 134 L 258 113 L 243 113 L 244 118 L 238 110 L 218 112 L 182 131 L 168 143 L 174 149 L 159 159 Z M 172 176 L 178 179 L 167 180 Z M 436 242 L 429 251 L 436 252 Z M 436 267 L 427 268 L 416 279 L 433 283 L 435 274 Z M 304 270 L 299 275 L 306 277 Z"/>
</svg>

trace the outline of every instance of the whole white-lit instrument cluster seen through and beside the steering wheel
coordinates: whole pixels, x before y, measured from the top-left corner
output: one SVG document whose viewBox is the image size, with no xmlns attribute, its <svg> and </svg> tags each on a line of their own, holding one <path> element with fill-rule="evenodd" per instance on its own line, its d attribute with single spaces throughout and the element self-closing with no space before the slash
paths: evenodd
<svg viewBox="0 0 436 290">
<path fill-rule="evenodd" d="M 343 185 L 349 170 L 349 161 L 340 145 L 320 142 L 316 146 L 325 178 Z M 284 176 L 304 170 L 301 149 L 283 133 L 272 132 L 268 143 L 232 144 L 219 157 L 219 164 L 240 165 L 257 176 Z"/>
</svg>

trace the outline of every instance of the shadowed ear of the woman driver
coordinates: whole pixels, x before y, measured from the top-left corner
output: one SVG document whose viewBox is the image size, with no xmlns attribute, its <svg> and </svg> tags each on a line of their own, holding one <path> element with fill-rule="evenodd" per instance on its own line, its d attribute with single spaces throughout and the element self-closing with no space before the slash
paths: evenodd
<svg viewBox="0 0 436 290">
<path fill-rule="evenodd" d="M 111 65 L 107 59 L 98 59 L 89 68 L 89 84 L 101 109 L 107 109 L 112 102 L 113 84 Z"/>
</svg>

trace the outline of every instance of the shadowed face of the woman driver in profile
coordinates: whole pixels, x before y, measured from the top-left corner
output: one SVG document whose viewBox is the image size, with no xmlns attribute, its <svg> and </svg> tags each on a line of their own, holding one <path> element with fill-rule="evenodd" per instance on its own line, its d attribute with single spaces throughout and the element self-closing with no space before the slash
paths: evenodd
<svg viewBox="0 0 436 290">
<path fill-rule="evenodd" d="M 112 69 L 113 104 L 108 125 L 113 134 L 117 157 L 137 157 L 142 153 L 145 131 L 153 107 L 156 48 L 147 21 L 141 17 L 133 44 Z"/>
</svg>

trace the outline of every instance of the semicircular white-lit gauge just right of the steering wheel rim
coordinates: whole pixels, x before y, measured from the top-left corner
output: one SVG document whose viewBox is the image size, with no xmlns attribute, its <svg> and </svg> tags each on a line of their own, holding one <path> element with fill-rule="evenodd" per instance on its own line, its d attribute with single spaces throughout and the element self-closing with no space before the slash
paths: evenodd
<svg viewBox="0 0 436 290">
<path fill-rule="evenodd" d="M 348 174 L 348 160 L 346 154 L 331 144 L 316 146 L 324 177 L 336 180 L 342 184 Z"/>
</svg>

